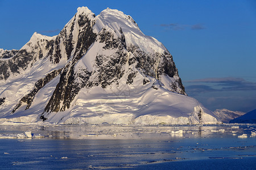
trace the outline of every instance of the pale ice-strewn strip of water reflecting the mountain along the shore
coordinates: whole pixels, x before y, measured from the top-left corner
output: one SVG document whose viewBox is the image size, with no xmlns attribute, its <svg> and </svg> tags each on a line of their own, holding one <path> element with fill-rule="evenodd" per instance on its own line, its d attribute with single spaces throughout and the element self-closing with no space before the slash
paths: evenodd
<svg viewBox="0 0 256 170">
<path fill-rule="evenodd" d="M 113 126 L 113 125 L 0 125 L 0 138 L 22 138 L 30 130 L 38 137 L 52 139 L 175 139 L 234 137 L 254 133 L 255 125 L 181 125 L 181 126 Z"/>
</svg>

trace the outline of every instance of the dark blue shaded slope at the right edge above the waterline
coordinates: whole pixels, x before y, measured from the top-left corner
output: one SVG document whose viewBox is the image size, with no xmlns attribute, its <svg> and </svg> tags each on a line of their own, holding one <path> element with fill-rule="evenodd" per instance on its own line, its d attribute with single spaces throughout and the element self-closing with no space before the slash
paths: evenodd
<svg viewBox="0 0 256 170">
<path fill-rule="evenodd" d="M 229 121 L 230 123 L 238 123 L 238 124 L 256 124 L 256 109 L 250 111 L 243 116 L 234 118 Z"/>
</svg>

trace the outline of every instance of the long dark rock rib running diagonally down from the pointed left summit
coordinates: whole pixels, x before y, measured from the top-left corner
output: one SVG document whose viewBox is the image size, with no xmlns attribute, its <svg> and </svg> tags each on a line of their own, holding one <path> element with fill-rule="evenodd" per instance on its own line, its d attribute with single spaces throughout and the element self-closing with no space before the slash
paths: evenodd
<svg viewBox="0 0 256 170">
<path fill-rule="evenodd" d="M 80 89 L 85 87 L 86 82 L 88 82 L 89 76 L 91 75 L 87 70 L 80 70 L 81 74 L 75 73 L 76 62 L 84 56 L 90 45 L 92 45 L 96 39 L 96 33 L 93 33 L 92 30 L 91 20 L 87 16 L 79 16 L 79 25 L 82 28 L 78 35 L 75 56 L 61 72 L 60 82 L 57 84 L 44 112 L 59 112 L 69 108 L 71 102 Z M 81 79 L 82 81 L 77 83 L 75 81 L 76 79 Z M 62 102 L 61 108 L 60 102 Z"/>
</svg>

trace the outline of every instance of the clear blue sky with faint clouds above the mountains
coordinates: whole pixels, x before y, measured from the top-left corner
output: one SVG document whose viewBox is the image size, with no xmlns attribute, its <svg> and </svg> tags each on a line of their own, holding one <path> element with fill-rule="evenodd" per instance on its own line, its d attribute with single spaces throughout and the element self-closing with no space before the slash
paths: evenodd
<svg viewBox="0 0 256 170">
<path fill-rule="evenodd" d="M 205 107 L 256 108 L 256 1 L 0 0 L 0 48 L 19 49 L 34 32 L 57 35 L 79 6 L 131 15 L 166 46 L 188 95 Z"/>
</svg>

